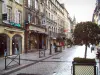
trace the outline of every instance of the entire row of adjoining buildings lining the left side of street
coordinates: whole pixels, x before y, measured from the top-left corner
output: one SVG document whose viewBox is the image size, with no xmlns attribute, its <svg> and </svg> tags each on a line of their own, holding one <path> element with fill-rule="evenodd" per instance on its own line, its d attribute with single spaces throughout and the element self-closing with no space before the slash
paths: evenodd
<svg viewBox="0 0 100 75">
<path fill-rule="evenodd" d="M 0 56 L 64 46 L 69 26 L 58 0 L 0 0 Z"/>
</svg>

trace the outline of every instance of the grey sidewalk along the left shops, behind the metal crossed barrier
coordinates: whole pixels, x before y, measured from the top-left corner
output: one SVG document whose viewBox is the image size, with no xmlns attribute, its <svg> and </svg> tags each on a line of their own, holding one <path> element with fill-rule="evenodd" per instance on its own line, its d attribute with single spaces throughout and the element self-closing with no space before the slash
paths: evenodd
<svg viewBox="0 0 100 75">
<path fill-rule="evenodd" d="M 35 64 L 39 61 L 45 60 L 53 55 L 59 54 L 59 52 L 55 53 L 54 50 L 52 50 L 52 55 L 49 54 L 50 50 L 45 50 L 45 56 L 39 58 L 39 51 L 37 52 L 31 52 L 31 53 L 25 53 L 20 54 L 20 65 L 12 66 L 11 68 L 5 70 L 5 59 L 0 58 L 0 74 L 6 74 L 10 71 L 14 71 L 17 68 L 24 68 L 25 66 L 29 66 L 31 64 Z M 18 62 L 18 59 L 15 59 Z M 11 61 L 11 59 L 7 59 L 7 64 Z M 9 66 L 16 64 L 16 62 L 12 62 Z"/>
</svg>

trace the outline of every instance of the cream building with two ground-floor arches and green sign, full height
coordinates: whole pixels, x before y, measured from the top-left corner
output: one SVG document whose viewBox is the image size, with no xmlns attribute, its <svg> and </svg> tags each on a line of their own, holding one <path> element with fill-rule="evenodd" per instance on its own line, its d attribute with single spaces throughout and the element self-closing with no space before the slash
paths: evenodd
<svg viewBox="0 0 100 75">
<path fill-rule="evenodd" d="M 2 5 L 1 5 L 2 4 Z M 0 56 L 24 52 L 23 0 L 0 1 Z"/>
</svg>

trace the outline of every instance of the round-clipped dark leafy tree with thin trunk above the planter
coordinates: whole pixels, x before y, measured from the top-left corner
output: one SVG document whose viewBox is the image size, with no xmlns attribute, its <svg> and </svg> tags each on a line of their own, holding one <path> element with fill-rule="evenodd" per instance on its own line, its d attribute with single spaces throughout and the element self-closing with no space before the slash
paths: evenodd
<svg viewBox="0 0 100 75">
<path fill-rule="evenodd" d="M 73 36 L 74 44 L 83 45 L 85 44 L 85 58 L 87 56 L 87 47 L 90 44 L 97 44 L 99 27 L 97 24 L 87 21 L 80 22 L 76 25 Z"/>
</svg>

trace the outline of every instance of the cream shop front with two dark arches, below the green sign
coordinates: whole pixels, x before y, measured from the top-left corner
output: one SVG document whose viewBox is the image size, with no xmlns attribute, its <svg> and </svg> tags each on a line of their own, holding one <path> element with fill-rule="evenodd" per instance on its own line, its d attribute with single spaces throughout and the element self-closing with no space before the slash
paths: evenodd
<svg viewBox="0 0 100 75">
<path fill-rule="evenodd" d="M 20 53 L 24 52 L 24 30 L 12 26 L 0 26 L 0 56 L 14 55 L 15 48 Z"/>
</svg>

